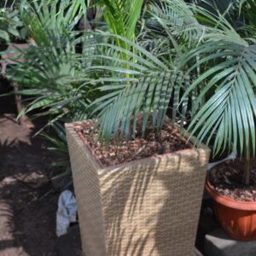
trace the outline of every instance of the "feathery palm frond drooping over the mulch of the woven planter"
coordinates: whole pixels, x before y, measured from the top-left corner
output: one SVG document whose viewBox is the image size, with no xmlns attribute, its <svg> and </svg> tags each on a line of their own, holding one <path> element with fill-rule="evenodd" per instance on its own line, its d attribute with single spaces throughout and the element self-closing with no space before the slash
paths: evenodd
<svg viewBox="0 0 256 256">
<path fill-rule="evenodd" d="M 92 114 L 97 113 L 99 131 L 102 139 L 108 143 L 113 135 L 120 137 L 136 136 L 137 120 L 142 120 L 142 133 L 145 134 L 149 119 L 154 128 L 163 125 L 166 111 L 172 99 L 172 119 L 177 116 L 177 105 L 183 90 L 183 73 L 177 73 L 172 66 L 166 65 L 138 44 L 119 37 L 135 51 L 123 49 L 113 44 L 101 44 L 113 50 L 116 55 L 125 52 L 131 61 L 108 56 L 101 66 L 90 67 L 91 72 L 102 73 L 97 80 L 102 84 L 99 90 L 107 92 L 105 96 L 92 103 Z M 106 59 L 104 55 L 96 58 Z M 111 64 L 113 64 L 111 66 Z M 127 77 L 129 73 L 131 76 Z M 110 83 L 111 82 L 111 83 Z M 142 117 L 142 118 L 141 118 Z"/>
</svg>

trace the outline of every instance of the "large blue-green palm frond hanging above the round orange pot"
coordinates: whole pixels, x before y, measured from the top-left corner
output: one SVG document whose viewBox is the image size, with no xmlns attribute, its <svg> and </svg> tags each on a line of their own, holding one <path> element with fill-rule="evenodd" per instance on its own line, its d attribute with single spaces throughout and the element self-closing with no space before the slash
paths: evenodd
<svg viewBox="0 0 256 256">
<path fill-rule="evenodd" d="M 192 135 L 196 134 L 199 141 L 207 138 L 209 143 L 215 137 L 215 154 L 225 148 L 233 148 L 243 154 L 251 147 L 255 155 L 255 53 L 256 44 L 236 44 L 220 38 L 219 41 L 209 41 L 193 50 L 186 59 L 188 61 L 191 57 L 207 55 L 196 65 L 218 61 L 217 65 L 202 73 L 187 91 L 188 94 L 202 81 L 207 81 L 198 96 L 198 103 L 212 88 L 215 90 L 207 102 L 200 109 L 197 108 L 189 125 L 189 131 Z"/>
</svg>

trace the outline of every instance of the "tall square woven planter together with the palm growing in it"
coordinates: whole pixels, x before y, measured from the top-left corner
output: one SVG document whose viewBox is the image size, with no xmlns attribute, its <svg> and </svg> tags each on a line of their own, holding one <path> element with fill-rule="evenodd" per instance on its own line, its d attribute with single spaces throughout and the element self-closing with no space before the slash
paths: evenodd
<svg viewBox="0 0 256 256">
<path fill-rule="evenodd" d="M 102 33 L 107 43 L 96 44 L 86 69 L 104 93 L 90 106 L 96 118 L 66 125 L 86 255 L 183 256 L 195 246 L 210 150 L 181 132 L 178 102 L 189 84 L 176 68 L 182 49 L 168 48 L 170 35 L 163 61 L 136 42 L 134 7 L 142 3 L 124 1 L 118 17 L 108 13 L 119 33 Z"/>
</svg>

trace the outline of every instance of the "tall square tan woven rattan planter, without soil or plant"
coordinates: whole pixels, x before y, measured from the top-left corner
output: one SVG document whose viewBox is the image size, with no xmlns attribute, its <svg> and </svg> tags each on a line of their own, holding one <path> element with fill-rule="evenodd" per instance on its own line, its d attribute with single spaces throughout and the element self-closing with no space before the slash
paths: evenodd
<svg viewBox="0 0 256 256">
<path fill-rule="evenodd" d="M 86 256 L 192 255 L 208 148 L 102 168 L 72 124 L 66 131 Z"/>
</svg>

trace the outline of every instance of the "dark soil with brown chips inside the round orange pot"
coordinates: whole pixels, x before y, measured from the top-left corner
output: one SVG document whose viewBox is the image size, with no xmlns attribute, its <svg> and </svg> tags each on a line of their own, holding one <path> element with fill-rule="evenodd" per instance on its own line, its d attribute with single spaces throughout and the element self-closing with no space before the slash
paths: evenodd
<svg viewBox="0 0 256 256">
<path fill-rule="evenodd" d="M 243 181 L 245 163 L 230 160 L 214 167 L 209 173 L 209 182 L 219 195 L 235 201 L 256 201 L 256 163 L 253 163 L 251 183 L 246 186 Z"/>
</svg>

